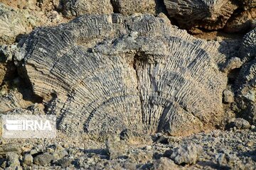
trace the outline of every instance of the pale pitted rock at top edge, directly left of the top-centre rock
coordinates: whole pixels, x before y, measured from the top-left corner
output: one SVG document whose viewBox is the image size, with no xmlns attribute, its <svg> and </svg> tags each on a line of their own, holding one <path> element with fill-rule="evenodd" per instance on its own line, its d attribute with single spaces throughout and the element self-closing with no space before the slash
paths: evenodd
<svg viewBox="0 0 256 170">
<path fill-rule="evenodd" d="M 113 13 L 113 7 L 110 0 L 60 0 L 63 8 L 63 14 L 67 17 L 80 16 L 85 13 L 108 14 Z"/>
</svg>

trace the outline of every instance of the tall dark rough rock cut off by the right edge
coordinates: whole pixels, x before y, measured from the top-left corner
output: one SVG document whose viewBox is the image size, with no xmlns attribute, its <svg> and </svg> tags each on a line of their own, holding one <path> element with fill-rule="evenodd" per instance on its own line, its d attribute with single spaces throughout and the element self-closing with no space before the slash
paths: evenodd
<svg viewBox="0 0 256 170">
<path fill-rule="evenodd" d="M 245 64 L 235 82 L 238 112 L 256 124 L 256 28 L 245 35 L 240 57 Z"/>
</svg>

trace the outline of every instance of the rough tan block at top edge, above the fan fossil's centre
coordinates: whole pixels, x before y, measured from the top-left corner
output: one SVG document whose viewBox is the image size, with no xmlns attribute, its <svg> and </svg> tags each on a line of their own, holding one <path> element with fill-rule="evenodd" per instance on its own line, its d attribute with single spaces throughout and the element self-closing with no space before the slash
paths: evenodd
<svg viewBox="0 0 256 170">
<path fill-rule="evenodd" d="M 155 0 L 112 0 L 114 10 L 117 13 L 131 15 L 133 13 L 156 13 Z"/>
</svg>

